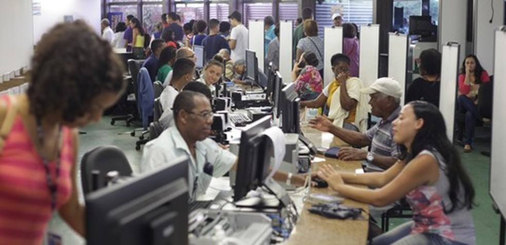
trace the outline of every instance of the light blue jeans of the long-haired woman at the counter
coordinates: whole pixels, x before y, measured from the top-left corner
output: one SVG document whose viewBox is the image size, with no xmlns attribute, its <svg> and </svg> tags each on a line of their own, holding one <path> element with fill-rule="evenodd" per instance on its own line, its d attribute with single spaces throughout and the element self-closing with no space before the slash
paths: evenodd
<svg viewBox="0 0 506 245">
<path fill-rule="evenodd" d="M 372 239 L 372 245 L 394 244 L 394 245 L 429 245 L 429 244 L 463 244 L 458 241 L 451 241 L 437 234 L 421 233 L 411 234 L 413 221 L 399 225 L 393 230 Z"/>
</svg>

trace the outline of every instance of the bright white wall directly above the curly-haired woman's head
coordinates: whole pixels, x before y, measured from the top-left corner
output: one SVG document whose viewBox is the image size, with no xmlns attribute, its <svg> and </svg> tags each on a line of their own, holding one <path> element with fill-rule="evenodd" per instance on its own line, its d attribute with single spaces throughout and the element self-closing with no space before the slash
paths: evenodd
<svg viewBox="0 0 506 245">
<path fill-rule="evenodd" d="M 74 20 L 85 20 L 100 34 L 100 0 L 33 0 L 33 2 L 41 3 L 41 15 L 33 16 L 33 44 L 39 42 L 42 34 L 52 26 L 63 22 L 64 15 L 73 15 Z"/>
</svg>

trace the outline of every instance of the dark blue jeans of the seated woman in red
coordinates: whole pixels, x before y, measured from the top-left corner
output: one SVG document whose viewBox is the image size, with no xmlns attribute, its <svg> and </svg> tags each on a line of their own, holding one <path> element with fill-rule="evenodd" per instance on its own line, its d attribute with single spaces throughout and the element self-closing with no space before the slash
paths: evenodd
<svg viewBox="0 0 506 245">
<path fill-rule="evenodd" d="M 476 105 L 471 99 L 469 99 L 469 97 L 465 95 L 460 95 L 458 102 L 459 102 L 459 111 L 465 114 L 464 144 L 473 145 L 476 121 L 482 121 L 483 118 L 481 117 L 480 112 L 478 111 L 478 105 Z"/>
</svg>

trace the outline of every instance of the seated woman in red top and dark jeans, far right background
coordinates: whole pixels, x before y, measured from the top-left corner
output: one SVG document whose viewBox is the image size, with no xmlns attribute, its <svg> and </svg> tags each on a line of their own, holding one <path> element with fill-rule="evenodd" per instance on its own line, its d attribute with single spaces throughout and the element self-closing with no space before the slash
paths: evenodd
<svg viewBox="0 0 506 245">
<path fill-rule="evenodd" d="M 465 153 L 473 150 L 476 121 L 488 121 L 478 111 L 478 90 L 480 84 L 489 81 L 489 73 L 483 69 L 476 55 L 467 55 L 460 67 L 458 97 L 459 111 L 465 114 Z"/>
</svg>

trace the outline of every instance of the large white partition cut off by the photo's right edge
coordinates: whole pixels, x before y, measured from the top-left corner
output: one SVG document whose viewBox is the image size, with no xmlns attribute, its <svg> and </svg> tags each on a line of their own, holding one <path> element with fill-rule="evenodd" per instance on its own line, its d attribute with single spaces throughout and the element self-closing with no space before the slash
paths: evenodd
<svg viewBox="0 0 506 245">
<path fill-rule="evenodd" d="M 506 139 L 506 27 L 495 31 L 495 50 L 494 50 L 494 95 L 492 115 L 494 123 L 492 124 L 492 156 L 490 166 L 490 195 L 497 204 L 502 217 L 506 215 L 506 150 L 504 150 L 504 139 Z M 495 82 L 497 81 L 497 82 Z"/>
</svg>

